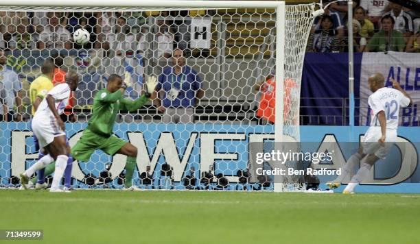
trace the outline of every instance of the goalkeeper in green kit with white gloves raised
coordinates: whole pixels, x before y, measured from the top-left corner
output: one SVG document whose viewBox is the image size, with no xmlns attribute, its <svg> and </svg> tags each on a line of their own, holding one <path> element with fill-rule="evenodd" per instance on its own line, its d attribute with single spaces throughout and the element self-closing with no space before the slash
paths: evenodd
<svg viewBox="0 0 420 244">
<path fill-rule="evenodd" d="M 136 111 L 148 99 L 154 99 L 156 77 L 148 77 L 147 91 L 144 95 L 130 101 L 123 98 L 124 91 L 130 86 L 130 75 L 126 73 L 124 81 L 119 75 L 110 75 L 106 88 L 100 90 L 93 99 L 92 117 L 84 130 L 82 137 L 71 149 L 76 160 L 87 162 L 96 149 L 101 149 L 108 155 L 126 155 L 126 181 L 124 190 L 137 191 L 139 188 L 132 185 L 132 175 L 136 167 L 137 147 L 113 134 L 115 117 L 119 110 Z"/>
</svg>

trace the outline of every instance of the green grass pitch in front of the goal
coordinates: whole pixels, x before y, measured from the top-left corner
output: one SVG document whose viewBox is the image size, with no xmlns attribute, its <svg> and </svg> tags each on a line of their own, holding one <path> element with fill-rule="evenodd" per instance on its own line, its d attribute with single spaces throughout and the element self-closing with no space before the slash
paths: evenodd
<svg viewBox="0 0 420 244">
<path fill-rule="evenodd" d="M 0 210 L 44 230 L 11 243 L 420 243 L 420 195 L 1 190 Z"/>
</svg>

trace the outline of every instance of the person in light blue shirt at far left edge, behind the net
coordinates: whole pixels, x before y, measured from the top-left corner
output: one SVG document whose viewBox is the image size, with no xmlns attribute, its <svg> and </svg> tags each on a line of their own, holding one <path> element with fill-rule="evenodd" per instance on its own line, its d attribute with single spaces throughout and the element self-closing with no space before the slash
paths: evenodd
<svg viewBox="0 0 420 244">
<path fill-rule="evenodd" d="M 7 116 L 5 117 L 5 121 L 13 121 L 14 117 L 14 106 L 16 105 L 16 121 L 21 121 L 22 117 L 19 114 L 19 111 L 23 109 L 22 107 L 22 83 L 19 80 L 18 75 L 16 72 L 8 69 L 5 66 L 7 62 L 6 57 L 4 56 L 3 49 L 0 49 L 0 82 L 3 85 L 3 89 L 5 90 L 6 97 L 5 102 L 3 104 L 7 105 Z M 16 103 L 15 103 L 16 102 Z"/>
</svg>

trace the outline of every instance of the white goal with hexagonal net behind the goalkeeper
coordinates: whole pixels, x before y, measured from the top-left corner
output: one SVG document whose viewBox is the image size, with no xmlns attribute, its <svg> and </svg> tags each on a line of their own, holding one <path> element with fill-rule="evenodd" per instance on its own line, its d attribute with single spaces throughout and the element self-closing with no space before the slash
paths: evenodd
<svg viewBox="0 0 420 244">
<path fill-rule="evenodd" d="M 137 112 L 121 111 L 114 127 L 115 135 L 138 149 L 136 186 L 299 190 L 302 178 L 258 175 L 258 165 L 271 169 L 272 164 L 254 162 L 255 151 L 274 149 L 274 141 L 299 142 L 301 71 L 314 6 L 234 1 L 243 6 L 237 8 L 232 2 L 0 6 L 0 47 L 8 72 L 17 75 L 16 81 L 2 75 L 0 88 L 13 84 L 12 93 L 22 97 L 21 104 L 19 98 L 1 99 L 1 186 L 19 186 L 16 175 L 38 157 L 30 127 L 30 84 L 50 58 L 61 71 L 80 74 L 71 106 L 62 115 L 71 146 L 109 75 L 130 75 L 127 99 L 144 93 L 147 77 L 158 77 L 160 99 Z M 83 46 L 72 40 L 80 28 L 90 32 Z M 62 82 L 60 74 L 55 79 Z M 276 86 L 276 80 L 283 82 Z M 125 164 L 125 156 L 97 150 L 89 162 L 73 162 L 72 186 L 121 188 Z M 297 168 L 299 162 L 284 167 Z"/>
</svg>

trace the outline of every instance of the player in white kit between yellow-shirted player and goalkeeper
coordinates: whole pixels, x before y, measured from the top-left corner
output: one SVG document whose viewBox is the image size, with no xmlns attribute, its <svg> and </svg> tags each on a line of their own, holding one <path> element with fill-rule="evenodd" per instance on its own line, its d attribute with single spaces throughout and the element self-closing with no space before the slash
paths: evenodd
<svg viewBox="0 0 420 244">
<path fill-rule="evenodd" d="M 50 191 L 63 191 L 59 186 L 67 166 L 67 155 L 70 152 L 67 151 L 65 124 L 62 122 L 60 114 L 69 102 L 70 91 L 75 91 L 78 83 L 79 76 L 77 73 L 67 73 L 66 83 L 58 84 L 49 90 L 47 96 L 38 106 L 32 119 L 32 130 L 38 138 L 40 148 L 44 148 L 48 154 L 21 173 L 21 184 L 24 187 L 35 171 L 43 169 L 51 162 L 56 161 L 56 170 Z"/>
</svg>

